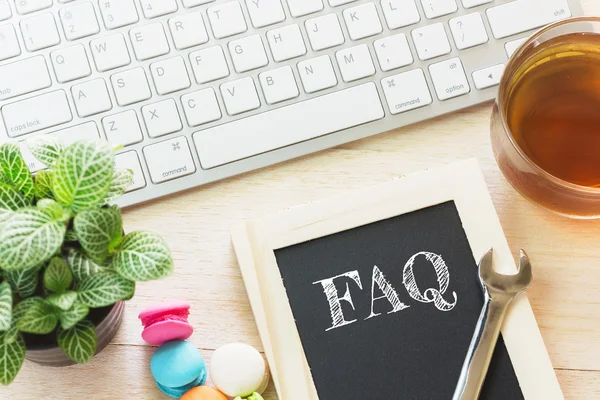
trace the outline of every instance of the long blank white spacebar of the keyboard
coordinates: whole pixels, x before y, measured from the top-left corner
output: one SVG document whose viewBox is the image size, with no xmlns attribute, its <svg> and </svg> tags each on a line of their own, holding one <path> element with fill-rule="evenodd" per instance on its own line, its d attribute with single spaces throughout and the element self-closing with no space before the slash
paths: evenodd
<svg viewBox="0 0 600 400">
<path fill-rule="evenodd" d="M 194 133 L 203 169 L 384 117 L 373 82 Z"/>
</svg>

